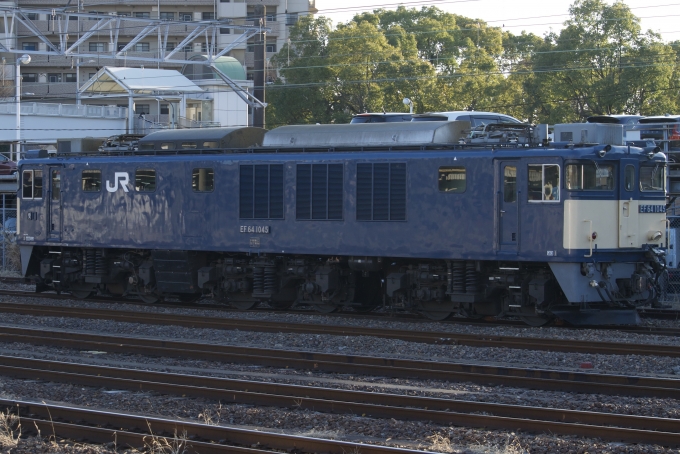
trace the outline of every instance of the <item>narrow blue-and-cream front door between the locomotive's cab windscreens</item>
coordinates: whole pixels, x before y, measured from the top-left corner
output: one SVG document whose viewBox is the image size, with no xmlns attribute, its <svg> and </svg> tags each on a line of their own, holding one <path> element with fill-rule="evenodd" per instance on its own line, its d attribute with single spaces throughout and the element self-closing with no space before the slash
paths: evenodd
<svg viewBox="0 0 680 454">
<path fill-rule="evenodd" d="M 638 247 L 638 170 L 635 160 L 622 159 L 619 170 L 619 247 Z"/>
</svg>

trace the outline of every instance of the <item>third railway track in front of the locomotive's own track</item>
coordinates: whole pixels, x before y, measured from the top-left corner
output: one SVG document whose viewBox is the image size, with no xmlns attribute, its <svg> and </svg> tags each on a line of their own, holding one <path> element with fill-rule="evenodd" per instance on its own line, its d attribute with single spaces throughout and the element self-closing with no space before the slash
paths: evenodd
<svg viewBox="0 0 680 454">
<path fill-rule="evenodd" d="M 680 420 L 677 419 L 231 380 L 8 356 L 0 356 L 0 374 L 79 386 L 208 398 L 223 403 L 680 445 Z"/>
</svg>

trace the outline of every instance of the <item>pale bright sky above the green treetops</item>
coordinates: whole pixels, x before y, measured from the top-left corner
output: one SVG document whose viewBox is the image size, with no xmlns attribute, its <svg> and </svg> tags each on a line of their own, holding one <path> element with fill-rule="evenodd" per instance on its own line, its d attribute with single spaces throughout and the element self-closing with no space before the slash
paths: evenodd
<svg viewBox="0 0 680 454">
<path fill-rule="evenodd" d="M 401 3 L 391 0 L 316 0 L 316 7 L 319 10 L 317 16 L 326 16 L 335 25 L 349 21 L 355 14 L 377 8 L 436 6 L 450 13 L 481 19 L 490 26 L 503 27 L 515 35 L 526 30 L 543 36 L 551 30 L 559 32 L 569 17 L 572 3 L 573 0 L 406 0 Z M 660 0 L 656 4 L 649 0 L 626 0 L 625 3 L 640 18 L 643 31 L 651 29 L 660 33 L 666 42 L 680 40 L 680 3 L 672 0 Z"/>
</svg>

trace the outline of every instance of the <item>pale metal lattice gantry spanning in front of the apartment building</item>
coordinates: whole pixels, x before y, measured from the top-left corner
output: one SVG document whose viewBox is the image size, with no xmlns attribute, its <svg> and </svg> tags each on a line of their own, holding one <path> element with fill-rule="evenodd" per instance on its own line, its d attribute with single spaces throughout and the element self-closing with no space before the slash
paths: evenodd
<svg viewBox="0 0 680 454">
<path fill-rule="evenodd" d="M 260 35 L 262 33 L 270 32 L 271 30 L 261 25 L 246 25 L 235 24 L 233 19 L 217 19 L 204 21 L 176 21 L 164 19 L 146 19 L 128 16 L 118 16 L 115 14 L 92 14 L 81 13 L 75 11 L 67 11 L 65 8 L 61 9 L 32 9 L 19 7 L 0 7 L 0 13 L 3 16 L 4 37 L 0 39 L 0 52 L 7 52 L 12 54 L 29 54 L 29 55 L 53 55 L 73 58 L 97 58 L 101 60 L 119 60 L 126 59 L 140 62 L 152 63 L 174 63 L 174 64 L 190 64 L 210 66 L 215 73 L 222 79 L 238 96 L 243 99 L 249 106 L 260 109 L 266 107 L 266 103 L 257 99 L 253 94 L 244 90 L 229 76 L 224 74 L 215 65 L 216 60 L 226 55 L 235 47 L 246 43 L 249 38 Z M 38 14 L 48 17 L 51 26 L 50 35 L 57 35 L 58 42 L 54 42 L 47 36 L 40 28 L 29 18 L 29 15 Z M 73 26 L 69 26 L 74 21 L 78 23 L 78 30 L 73 30 Z M 81 23 L 87 23 L 88 27 L 82 32 L 79 30 Z M 92 24 L 92 25 L 90 25 Z M 23 25 L 26 30 L 45 45 L 46 50 L 24 50 L 17 47 L 17 34 L 19 25 Z M 186 36 L 173 49 L 168 50 L 168 37 L 171 35 L 173 27 L 184 27 Z M 230 36 L 236 36 L 235 39 L 220 48 L 219 36 L 220 29 L 230 29 Z M 118 37 L 121 30 L 135 30 L 139 31 L 130 39 L 130 35 L 125 37 L 125 45 L 120 49 L 118 47 Z M 77 39 L 70 41 L 69 32 L 78 34 Z M 93 36 L 101 36 L 104 34 L 109 39 L 109 50 L 104 52 L 85 52 L 80 50 L 80 46 L 91 39 Z M 158 39 L 158 53 L 156 56 L 140 56 L 128 54 L 128 51 L 134 49 L 134 46 L 142 39 L 151 36 L 157 36 Z M 175 33 L 176 35 L 176 33 Z M 129 41 L 128 41 L 129 39 Z M 178 58 L 180 51 L 185 46 L 191 45 L 194 42 L 205 43 L 205 54 L 207 59 L 204 61 L 186 60 Z"/>
</svg>

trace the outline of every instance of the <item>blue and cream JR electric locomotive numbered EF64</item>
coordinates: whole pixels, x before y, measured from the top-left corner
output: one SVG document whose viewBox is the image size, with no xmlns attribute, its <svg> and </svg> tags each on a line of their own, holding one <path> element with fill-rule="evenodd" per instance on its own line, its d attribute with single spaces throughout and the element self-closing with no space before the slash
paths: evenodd
<svg viewBox="0 0 680 454">
<path fill-rule="evenodd" d="M 24 159 L 23 273 L 83 298 L 634 323 L 664 271 L 666 157 L 506 126 L 175 130 Z"/>
</svg>

